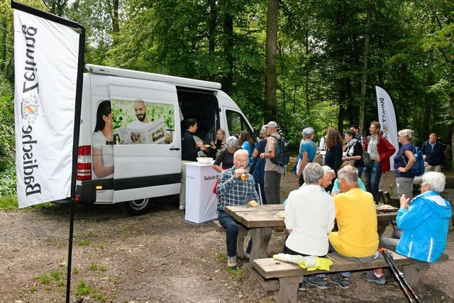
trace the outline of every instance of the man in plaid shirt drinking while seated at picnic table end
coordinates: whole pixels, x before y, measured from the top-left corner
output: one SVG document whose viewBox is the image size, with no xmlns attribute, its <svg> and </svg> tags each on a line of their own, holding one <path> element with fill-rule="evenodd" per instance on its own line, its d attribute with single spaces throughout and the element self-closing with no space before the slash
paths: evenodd
<svg viewBox="0 0 454 303">
<path fill-rule="evenodd" d="M 229 216 L 224 209 L 226 206 L 247 205 L 250 200 L 258 201 L 255 191 L 254 177 L 246 172 L 249 155 L 247 150 L 237 150 L 233 155 L 233 167 L 223 170 L 219 175 L 216 192 L 218 194 L 218 220 L 226 228 L 227 266 L 236 268 L 236 245 L 238 238 L 238 222 Z M 246 180 L 241 175 L 246 175 Z M 246 255 L 252 248 L 252 239 L 249 241 Z"/>
</svg>

